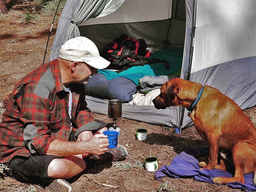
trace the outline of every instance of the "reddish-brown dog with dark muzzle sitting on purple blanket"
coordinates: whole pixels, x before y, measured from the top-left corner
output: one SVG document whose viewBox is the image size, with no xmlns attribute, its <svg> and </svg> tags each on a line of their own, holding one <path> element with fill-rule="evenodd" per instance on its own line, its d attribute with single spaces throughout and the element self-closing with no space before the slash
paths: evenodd
<svg viewBox="0 0 256 192">
<path fill-rule="evenodd" d="M 169 106 L 188 108 L 196 100 L 202 84 L 174 78 L 161 87 L 161 93 L 153 103 L 157 109 Z M 188 116 L 193 120 L 199 135 L 208 142 L 209 154 L 202 169 L 227 170 L 227 162 L 221 159 L 217 165 L 218 150 L 232 153 L 235 166 L 233 178 L 215 177 L 215 183 L 244 183 L 244 175 L 256 169 L 256 130 L 242 109 L 219 90 L 205 86 L 196 107 Z M 222 154 L 223 156 L 223 154 Z M 202 165 L 202 164 L 201 164 Z"/>
</svg>

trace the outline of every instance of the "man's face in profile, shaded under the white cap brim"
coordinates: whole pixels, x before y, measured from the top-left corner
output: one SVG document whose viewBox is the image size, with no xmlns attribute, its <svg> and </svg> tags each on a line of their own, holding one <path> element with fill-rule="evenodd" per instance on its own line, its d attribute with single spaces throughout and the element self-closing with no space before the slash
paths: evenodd
<svg viewBox="0 0 256 192">
<path fill-rule="evenodd" d="M 79 62 L 79 64 L 77 65 L 77 69 L 73 75 L 76 83 L 85 84 L 86 82 L 88 82 L 90 75 L 97 74 L 97 73 L 98 73 L 98 69 L 93 68 L 92 66 L 84 62 L 83 63 Z"/>
</svg>

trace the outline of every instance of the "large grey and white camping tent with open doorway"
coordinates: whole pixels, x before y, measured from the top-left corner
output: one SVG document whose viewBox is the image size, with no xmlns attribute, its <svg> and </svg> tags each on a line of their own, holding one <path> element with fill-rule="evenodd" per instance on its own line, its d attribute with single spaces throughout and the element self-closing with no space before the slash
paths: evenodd
<svg viewBox="0 0 256 192">
<path fill-rule="evenodd" d="M 255 0 L 67 0 L 50 60 L 67 40 L 86 36 L 102 50 L 121 34 L 144 38 L 151 52 L 184 47 L 181 78 L 210 85 L 242 109 L 256 105 Z M 107 101 L 86 96 L 92 112 Z M 182 107 L 123 104 L 123 117 L 180 130 L 193 124 Z"/>
</svg>

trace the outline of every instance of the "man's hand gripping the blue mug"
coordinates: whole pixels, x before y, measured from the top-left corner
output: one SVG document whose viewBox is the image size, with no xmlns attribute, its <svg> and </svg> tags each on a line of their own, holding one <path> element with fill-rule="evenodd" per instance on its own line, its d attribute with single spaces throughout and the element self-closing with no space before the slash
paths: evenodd
<svg viewBox="0 0 256 192">
<path fill-rule="evenodd" d="M 108 150 L 108 136 L 104 134 L 96 134 L 93 135 L 88 142 L 87 153 L 101 155 L 104 154 Z"/>
</svg>

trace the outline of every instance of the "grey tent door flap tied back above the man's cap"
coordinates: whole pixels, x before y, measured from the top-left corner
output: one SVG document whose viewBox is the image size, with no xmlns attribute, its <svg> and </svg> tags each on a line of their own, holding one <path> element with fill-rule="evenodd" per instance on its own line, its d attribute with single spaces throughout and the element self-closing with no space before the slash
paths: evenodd
<svg viewBox="0 0 256 192">
<path fill-rule="evenodd" d="M 56 37 L 52 45 L 50 61 L 57 59 L 59 49 L 69 39 L 80 36 L 77 25 L 102 14 L 114 12 L 124 0 L 75 0 L 67 1 L 60 16 Z M 71 21 L 74 21 L 71 23 Z"/>
</svg>

